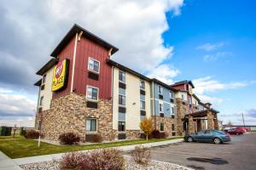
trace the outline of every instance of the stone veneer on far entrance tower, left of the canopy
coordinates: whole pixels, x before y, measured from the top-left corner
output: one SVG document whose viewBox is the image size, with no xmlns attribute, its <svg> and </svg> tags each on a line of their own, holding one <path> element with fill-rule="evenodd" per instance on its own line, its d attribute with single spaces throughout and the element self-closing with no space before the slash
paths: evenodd
<svg viewBox="0 0 256 170">
<path fill-rule="evenodd" d="M 183 104 L 184 102 L 184 104 Z M 182 99 L 176 98 L 177 105 L 177 135 L 183 135 L 183 118 L 189 113 L 189 105 L 187 102 L 182 101 Z"/>
</svg>

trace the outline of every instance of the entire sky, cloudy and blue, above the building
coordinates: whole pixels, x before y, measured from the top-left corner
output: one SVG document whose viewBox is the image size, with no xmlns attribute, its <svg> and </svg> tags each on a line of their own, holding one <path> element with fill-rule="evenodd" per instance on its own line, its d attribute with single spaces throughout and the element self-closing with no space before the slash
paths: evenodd
<svg viewBox="0 0 256 170">
<path fill-rule="evenodd" d="M 256 2 L 0 0 L 0 125 L 33 127 L 35 72 L 74 23 L 112 59 L 172 84 L 191 80 L 224 123 L 256 125 Z"/>
</svg>

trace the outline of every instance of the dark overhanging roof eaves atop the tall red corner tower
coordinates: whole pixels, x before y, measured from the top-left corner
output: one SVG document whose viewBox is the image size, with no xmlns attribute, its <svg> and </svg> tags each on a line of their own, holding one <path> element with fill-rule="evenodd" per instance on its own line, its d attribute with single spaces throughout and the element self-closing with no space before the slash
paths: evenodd
<svg viewBox="0 0 256 170">
<path fill-rule="evenodd" d="M 97 44 L 101 45 L 104 48 L 107 48 L 108 50 L 112 48 L 111 54 L 114 54 L 119 50 L 119 48 L 114 47 L 112 44 L 104 41 L 102 38 L 97 37 L 95 34 L 91 33 L 90 31 L 85 30 L 79 25 L 74 24 L 74 26 L 67 32 L 67 35 L 63 37 L 61 42 L 55 47 L 53 52 L 50 54 L 52 57 L 57 57 L 57 55 L 61 52 L 61 50 L 67 45 L 67 43 L 76 35 L 76 33 L 79 33 L 80 31 L 83 31 L 82 36 L 90 39 L 93 42 L 96 42 Z"/>
</svg>

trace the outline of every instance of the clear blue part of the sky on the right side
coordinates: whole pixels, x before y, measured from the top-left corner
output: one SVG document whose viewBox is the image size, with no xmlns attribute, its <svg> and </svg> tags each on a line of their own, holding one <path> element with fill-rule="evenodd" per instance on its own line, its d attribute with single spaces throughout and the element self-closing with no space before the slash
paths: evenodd
<svg viewBox="0 0 256 170">
<path fill-rule="evenodd" d="M 255 7 L 255 1 L 192 0 L 184 2 L 180 15 L 166 13 L 170 29 L 162 37 L 174 51 L 172 59 L 164 62 L 181 71 L 174 80 L 211 77 L 224 84 L 244 83 L 241 88 L 204 93 L 223 99 L 216 108 L 224 122 L 241 123 L 237 113 L 256 106 Z M 216 48 L 199 48 L 205 44 Z M 248 123 L 256 124 L 255 120 Z"/>
</svg>

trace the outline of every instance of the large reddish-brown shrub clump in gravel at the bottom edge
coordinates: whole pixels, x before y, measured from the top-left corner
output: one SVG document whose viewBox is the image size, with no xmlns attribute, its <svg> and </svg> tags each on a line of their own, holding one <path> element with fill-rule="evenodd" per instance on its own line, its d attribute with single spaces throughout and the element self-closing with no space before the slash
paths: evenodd
<svg viewBox="0 0 256 170">
<path fill-rule="evenodd" d="M 125 169 L 125 159 L 120 150 L 113 149 L 73 152 L 61 157 L 60 169 L 122 170 Z"/>
</svg>

